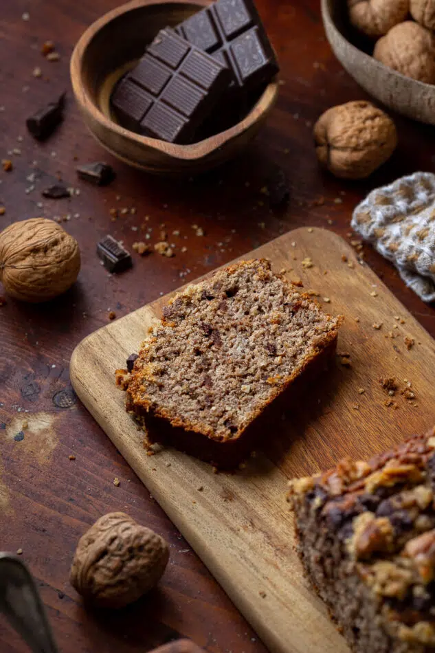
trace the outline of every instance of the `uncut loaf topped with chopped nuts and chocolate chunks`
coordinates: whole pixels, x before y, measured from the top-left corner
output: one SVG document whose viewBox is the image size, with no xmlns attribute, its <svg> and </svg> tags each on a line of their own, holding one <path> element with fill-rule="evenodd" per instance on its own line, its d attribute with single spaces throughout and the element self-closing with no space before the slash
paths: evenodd
<svg viewBox="0 0 435 653">
<path fill-rule="evenodd" d="M 435 429 L 291 481 L 304 568 L 356 653 L 435 647 Z"/>
</svg>

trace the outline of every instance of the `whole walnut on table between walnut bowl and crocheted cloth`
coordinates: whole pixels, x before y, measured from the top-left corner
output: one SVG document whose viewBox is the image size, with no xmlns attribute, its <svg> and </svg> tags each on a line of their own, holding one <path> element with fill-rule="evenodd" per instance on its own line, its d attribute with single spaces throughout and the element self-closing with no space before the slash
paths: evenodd
<svg viewBox="0 0 435 653">
<path fill-rule="evenodd" d="M 336 177 L 364 179 L 397 145 L 394 122 L 370 102 L 332 107 L 314 126 L 317 158 Z"/>
</svg>

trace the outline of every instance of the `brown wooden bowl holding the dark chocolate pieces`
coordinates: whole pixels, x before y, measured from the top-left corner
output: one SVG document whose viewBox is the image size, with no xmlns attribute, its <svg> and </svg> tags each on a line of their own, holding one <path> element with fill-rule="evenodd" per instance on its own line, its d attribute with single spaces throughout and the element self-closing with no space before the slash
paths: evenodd
<svg viewBox="0 0 435 653">
<path fill-rule="evenodd" d="M 96 140 L 127 164 L 161 175 L 194 174 L 237 155 L 254 138 L 278 95 L 271 82 L 246 117 L 226 131 L 190 145 L 142 136 L 116 122 L 111 91 L 166 25 L 174 26 L 207 0 L 133 0 L 104 14 L 78 41 L 71 57 L 71 82 L 85 122 Z"/>
</svg>

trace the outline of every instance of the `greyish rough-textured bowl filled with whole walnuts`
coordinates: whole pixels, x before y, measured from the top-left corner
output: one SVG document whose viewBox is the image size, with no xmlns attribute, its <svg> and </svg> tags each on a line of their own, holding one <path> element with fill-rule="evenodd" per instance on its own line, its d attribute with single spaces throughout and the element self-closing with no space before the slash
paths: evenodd
<svg viewBox="0 0 435 653">
<path fill-rule="evenodd" d="M 405 77 L 370 56 L 374 43 L 368 45 L 350 27 L 346 0 L 322 0 L 322 18 L 335 56 L 370 95 L 408 118 L 435 124 L 435 86 Z"/>
</svg>

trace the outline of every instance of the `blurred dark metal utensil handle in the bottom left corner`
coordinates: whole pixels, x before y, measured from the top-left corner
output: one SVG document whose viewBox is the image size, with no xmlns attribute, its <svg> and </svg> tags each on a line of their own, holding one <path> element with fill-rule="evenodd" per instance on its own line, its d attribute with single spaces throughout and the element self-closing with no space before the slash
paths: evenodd
<svg viewBox="0 0 435 653">
<path fill-rule="evenodd" d="M 0 553 L 0 612 L 33 653 L 58 653 L 32 575 L 11 553 Z"/>
</svg>

